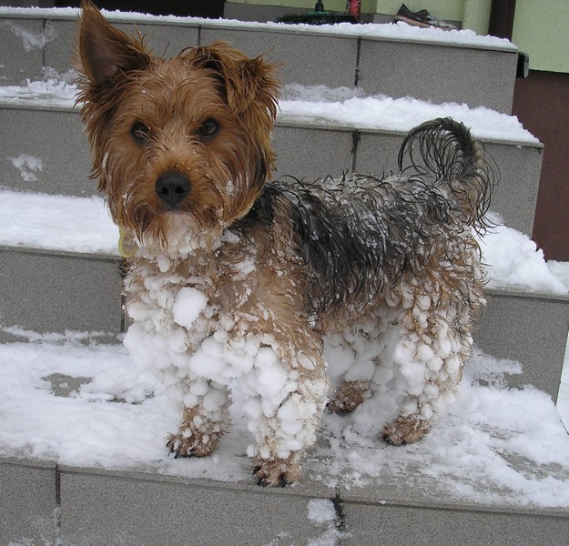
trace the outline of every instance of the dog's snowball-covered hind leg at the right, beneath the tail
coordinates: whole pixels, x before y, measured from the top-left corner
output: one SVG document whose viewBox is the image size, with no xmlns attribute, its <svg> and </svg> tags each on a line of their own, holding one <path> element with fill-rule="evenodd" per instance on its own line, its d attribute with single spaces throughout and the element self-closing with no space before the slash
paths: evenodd
<svg viewBox="0 0 569 546">
<path fill-rule="evenodd" d="M 416 282 L 401 282 L 398 292 L 389 303 L 399 308 L 392 368 L 400 413 L 383 430 L 395 445 L 421 440 L 431 430 L 452 401 L 472 350 L 471 308 L 458 295 Z"/>
</svg>

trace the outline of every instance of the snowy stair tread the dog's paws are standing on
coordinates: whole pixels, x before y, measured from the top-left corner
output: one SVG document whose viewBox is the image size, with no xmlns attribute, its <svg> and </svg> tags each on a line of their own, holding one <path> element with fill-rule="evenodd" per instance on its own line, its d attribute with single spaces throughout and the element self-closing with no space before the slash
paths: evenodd
<svg viewBox="0 0 569 546">
<path fill-rule="evenodd" d="M 126 349 L 80 338 L 31 336 L 33 344 L 0 345 L 0 454 L 164 481 L 218 480 L 228 489 L 253 485 L 239 410 L 211 458 L 168 458 L 163 437 L 176 428 L 176 412 L 162 394 L 144 398 L 153 384 L 137 375 Z M 418 506 L 568 509 L 569 436 L 552 400 L 537 389 L 503 388 L 501 374 L 516 373 L 511 361 L 477 353 L 465 372 L 448 415 L 417 444 L 381 443 L 381 422 L 365 406 L 351 416 L 326 415 L 304 463 L 306 481 L 290 492 L 340 490 L 352 501 Z"/>
</svg>

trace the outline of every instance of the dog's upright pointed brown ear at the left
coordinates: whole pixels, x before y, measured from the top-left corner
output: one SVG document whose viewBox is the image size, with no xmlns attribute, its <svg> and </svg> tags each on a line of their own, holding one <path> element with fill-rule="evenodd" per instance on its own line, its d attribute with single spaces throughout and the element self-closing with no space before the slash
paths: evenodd
<svg viewBox="0 0 569 546">
<path fill-rule="evenodd" d="M 131 37 L 111 26 L 90 0 L 81 3 L 76 71 L 99 89 L 113 86 L 117 76 L 142 70 L 150 54 L 142 38 Z"/>
</svg>

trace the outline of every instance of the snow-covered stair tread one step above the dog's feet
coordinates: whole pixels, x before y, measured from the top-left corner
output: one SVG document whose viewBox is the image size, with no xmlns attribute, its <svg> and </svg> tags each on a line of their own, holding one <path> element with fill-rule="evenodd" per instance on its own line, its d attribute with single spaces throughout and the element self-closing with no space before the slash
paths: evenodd
<svg viewBox="0 0 569 546">
<path fill-rule="evenodd" d="M 568 296 L 563 279 L 569 277 L 569 264 L 556 263 L 552 270 L 528 236 L 500 225 L 499 217 L 493 220 L 498 225 L 481 238 L 488 287 Z M 117 240 L 102 197 L 0 190 L 0 245 L 117 257 Z"/>
</svg>

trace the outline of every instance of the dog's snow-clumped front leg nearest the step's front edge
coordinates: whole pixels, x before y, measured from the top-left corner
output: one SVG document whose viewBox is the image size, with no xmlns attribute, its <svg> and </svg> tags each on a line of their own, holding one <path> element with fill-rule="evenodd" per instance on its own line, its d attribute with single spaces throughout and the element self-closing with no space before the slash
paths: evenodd
<svg viewBox="0 0 569 546">
<path fill-rule="evenodd" d="M 246 384 L 244 410 L 255 435 L 248 450 L 256 460 L 254 475 L 260 485 L 299 480 L 300 459 L 316 440 L 328 390 L 321 351 L 290 349 L 279 358 L 275 350 L 263 348 Z"/>
</svg>

